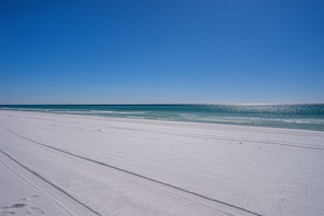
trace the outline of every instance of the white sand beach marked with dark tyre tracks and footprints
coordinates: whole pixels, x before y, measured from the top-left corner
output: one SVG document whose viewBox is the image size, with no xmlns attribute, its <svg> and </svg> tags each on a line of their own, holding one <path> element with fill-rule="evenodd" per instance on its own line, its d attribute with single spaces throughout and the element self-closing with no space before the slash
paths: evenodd
<svg viewBox="0 0 324 216">
<path fill-rule="evenodd" d="M 324 215 L 324 132 L 0 110 L 0 215 Z"/>
</svg>

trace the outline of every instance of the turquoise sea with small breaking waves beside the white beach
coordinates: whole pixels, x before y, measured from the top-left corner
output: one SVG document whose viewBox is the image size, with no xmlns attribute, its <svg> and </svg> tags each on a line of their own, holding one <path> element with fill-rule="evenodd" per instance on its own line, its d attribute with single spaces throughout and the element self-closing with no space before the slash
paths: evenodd
<svg viewBox="0 0 324 216">
<path fill-rule="evenodd" d="M 0 109 L 324 131 L 324 105 L 8 105 Z"/>
</svg>

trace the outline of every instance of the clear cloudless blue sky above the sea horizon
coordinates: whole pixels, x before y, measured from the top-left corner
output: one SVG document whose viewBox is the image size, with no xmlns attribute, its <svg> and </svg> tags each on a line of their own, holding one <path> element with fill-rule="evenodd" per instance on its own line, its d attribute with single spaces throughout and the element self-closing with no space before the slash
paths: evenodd
<svg viewBox="0 0 324 216">
<path fill-rule="evenodd" d="M 324 1 L 0 1 L 0 104 L 156 103 L 324 103 Z"/>
</svg>

